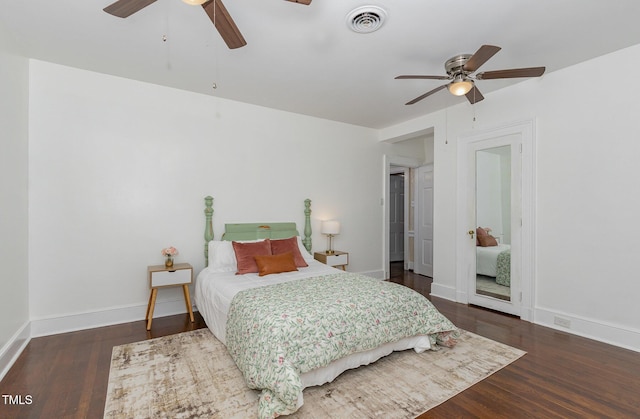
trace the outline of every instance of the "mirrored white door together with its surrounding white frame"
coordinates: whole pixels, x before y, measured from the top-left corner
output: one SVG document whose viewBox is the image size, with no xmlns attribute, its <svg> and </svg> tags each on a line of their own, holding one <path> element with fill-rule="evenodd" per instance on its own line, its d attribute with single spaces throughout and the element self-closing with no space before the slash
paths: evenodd
<svg viewBox="0 0 640 419">
<path fill-rule="evenodd" d="M 530 320 L 533 123 L 459 141 L 459 301 Z"/>
</svg>

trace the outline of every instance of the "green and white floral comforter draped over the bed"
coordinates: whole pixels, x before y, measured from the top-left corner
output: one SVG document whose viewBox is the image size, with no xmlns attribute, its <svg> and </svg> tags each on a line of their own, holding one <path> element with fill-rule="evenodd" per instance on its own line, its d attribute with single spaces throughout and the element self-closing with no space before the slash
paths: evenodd
<svg viewBox="0 0 640 419">
<path fill-rule="evenodd" d="M 459 332 L 407 287 L 337 273 L 239 292 L 226 341 L 247 385 L 262 390 L 259 416 L 271 418 L 298 408 L 300 374 L 414 335 L 453 346 Z"/>
</svg>

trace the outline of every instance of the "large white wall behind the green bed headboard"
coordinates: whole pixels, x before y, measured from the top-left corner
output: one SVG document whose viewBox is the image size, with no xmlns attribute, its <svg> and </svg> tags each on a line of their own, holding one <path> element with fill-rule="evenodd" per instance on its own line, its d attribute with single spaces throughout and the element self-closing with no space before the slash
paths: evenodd
<svg viewBox="0 0 640 419">
<path fill-rule="evenodd" d="M 374 130 L 41 61 L 30 65 L 34 335 L 144 318 L 160 250 L 203 265 L 204 201 L 225 222 L 341 221 L 349 270 L 382 272 L 383 154 Z M 163 290 L 156 312 L 184 311 Z M 164 304 L 164 305 L 163 305 Z M 164 307 L 164 308 L 163 308 Z"/>
</svg>

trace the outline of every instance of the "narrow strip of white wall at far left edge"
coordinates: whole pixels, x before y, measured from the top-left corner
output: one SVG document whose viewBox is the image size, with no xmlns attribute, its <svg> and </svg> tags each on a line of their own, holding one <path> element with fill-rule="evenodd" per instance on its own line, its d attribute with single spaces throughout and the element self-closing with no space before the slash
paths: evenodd
<svg viewBox="0 0 640 419">
<path fill-rule="evenodd" d="M 29 337 L 28 68 L 0 48 L 0 379 Z"/>
</svg>

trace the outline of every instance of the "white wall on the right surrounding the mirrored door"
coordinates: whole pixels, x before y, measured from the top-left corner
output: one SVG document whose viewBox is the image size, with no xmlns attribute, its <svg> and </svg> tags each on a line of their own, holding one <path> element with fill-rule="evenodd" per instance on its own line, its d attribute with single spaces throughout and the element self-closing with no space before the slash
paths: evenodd
<svg viewBox="0 0 640 419">
<path fill-rule="evenodd" d="M 458 136 L 535 119 L 534 321 L 562 316 L 571 332 L 640 350 L 640 103 L 612 84 L 621 61 L 640 63 L 640 45 L 382 130 L 384 140 L 435 127 L 433 289 L 456 286 Z"/>
</svg>

